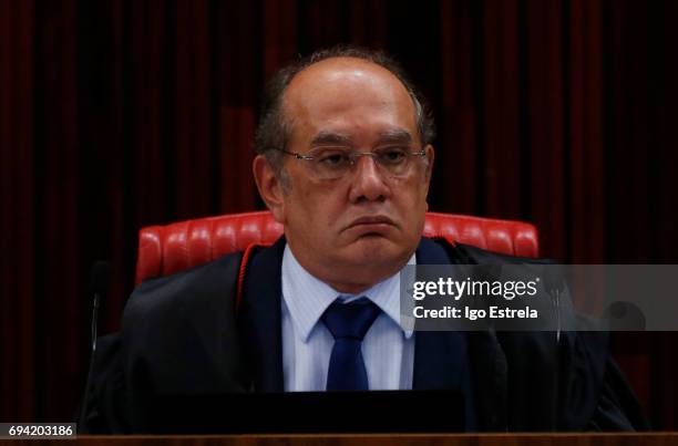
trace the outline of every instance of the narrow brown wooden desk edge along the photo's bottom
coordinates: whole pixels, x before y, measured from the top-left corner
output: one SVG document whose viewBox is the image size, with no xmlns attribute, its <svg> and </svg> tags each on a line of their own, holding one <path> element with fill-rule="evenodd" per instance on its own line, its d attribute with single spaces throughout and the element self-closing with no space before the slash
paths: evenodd
<svg viewBox="0 0 678 446">
<path fill-rule="evenodd" d="M 0 439 L 0 444 L 35 445 L 33 439 Z M 44 445 L 150 446 L 387 446 L 387 445 L 549 445 L 549 446 L 664 446 L 678 445 L 678 433 L 651 434 L 323 434 L 323 435 L 214 435 L 214 436 L 79 436 L 42 439 Z"/>
</svg>

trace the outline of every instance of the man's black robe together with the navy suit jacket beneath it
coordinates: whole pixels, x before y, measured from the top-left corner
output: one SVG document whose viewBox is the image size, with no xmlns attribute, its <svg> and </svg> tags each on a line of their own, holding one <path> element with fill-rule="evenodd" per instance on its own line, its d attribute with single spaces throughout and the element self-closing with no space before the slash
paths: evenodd
<svg viewBox="0 0 678 446">
<path fill-rule="evenodd" d="M 100 339 L 80 432 L 143 433 L 162 395 L 281 392 L 280 266 L 285 240 L 144 281 L 122 329 Z M 547 262 L 423 238 L 418 265 Z M 585 321 L 584 321 L 585 322 Z M 459 387 L 454 333 L 418 332 L 414 390 Z M 482 432 L 633 431 L 647 422 L 599 331 L 465 334 Z M 449 351 L 449 354 L 445 354 Z M 227 422 L 226 422 L 227 423 Z"/>
</svg>

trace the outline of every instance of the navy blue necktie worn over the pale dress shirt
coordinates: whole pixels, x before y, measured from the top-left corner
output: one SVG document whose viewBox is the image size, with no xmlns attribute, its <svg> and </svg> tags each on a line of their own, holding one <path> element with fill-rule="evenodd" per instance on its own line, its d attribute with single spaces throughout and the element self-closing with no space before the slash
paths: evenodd
<svg viewBox="0 0 678 446">
<path fill-rule="evenodd" d="M 335 338 L 327 372 L 328 391 L 369 390 L 361 346 L 380 311 L 372 301 L 360 298 L 350 303 L 336 300 L 322 314 L 322 322 Z"/>
</svg>

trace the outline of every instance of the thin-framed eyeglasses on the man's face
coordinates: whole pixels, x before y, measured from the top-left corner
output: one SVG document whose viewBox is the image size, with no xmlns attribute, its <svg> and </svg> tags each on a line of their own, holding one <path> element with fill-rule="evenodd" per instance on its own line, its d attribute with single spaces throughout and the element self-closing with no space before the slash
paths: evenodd
<svg viewBox="0 0 678 446">
<path fill-rule="evenodd" d="M 381 172 L 390 177 L 407 176 L 415 159 L 423 159 L 427 152 L 421 149 L 412 152 L 409 147 L 388 146 L 378 147 L 372 152 L 356 152 L 348 147 L 316 147 L 307 154 L 298 154 L 288 152 L 282 148 L 275 148 L 286 155 L 301 159 L 309 168 L 309 173 L 317 179 L 338 179 L 356 167 L 359 156 L 370 156 L 381 169 Z"/>
</svg>

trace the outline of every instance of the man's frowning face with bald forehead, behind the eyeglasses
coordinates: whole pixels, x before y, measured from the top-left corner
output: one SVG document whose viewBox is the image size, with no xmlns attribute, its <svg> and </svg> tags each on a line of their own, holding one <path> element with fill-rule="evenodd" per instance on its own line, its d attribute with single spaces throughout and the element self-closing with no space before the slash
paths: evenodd
<svg viewBox="0 0 678 446">
<path fill-rule="evenodd" d="M 299 263 L 338 291 L 360 292 L 396 273 L 419 243 L 433 163 L 432 147 L 421 147 L 404 86 L 376 64 L 329 59 L 294 77 L 284 110 L 291 121 L 290 152 L 328 145 L 427 151 L 428 162 L 412 157 L 402 177 L 362 156 L 345 177 L 318 179 L 310 162 L 285 156 L 288 185 L 273 206 L 267 200 Z"/>
</svg>

